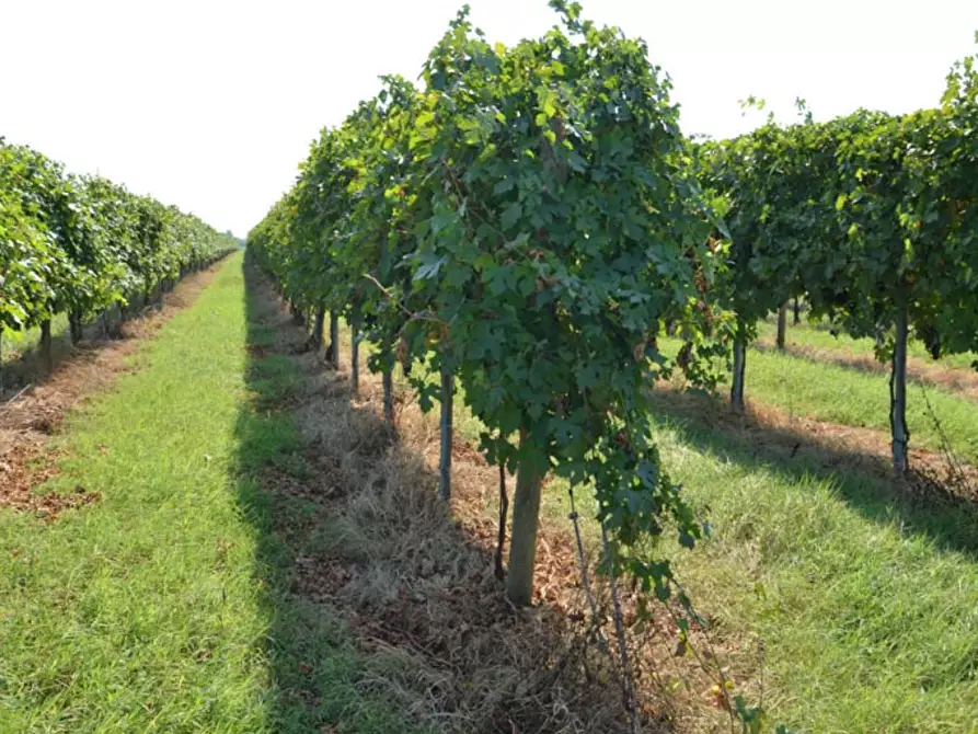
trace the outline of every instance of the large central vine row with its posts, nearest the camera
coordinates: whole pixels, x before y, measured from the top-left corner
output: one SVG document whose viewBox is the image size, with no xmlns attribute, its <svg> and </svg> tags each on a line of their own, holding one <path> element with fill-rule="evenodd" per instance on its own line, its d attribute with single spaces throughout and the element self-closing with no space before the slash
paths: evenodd
<svg viewBox="0 0 978 734">
<path fill-rule="evenodd" d="M 444 498 L 453 397 L 482 422 L 486 459 L 516 474 L 514 604 L 532 599 L 550 473 L 594 492 L 614 574 L 665 599 L 651 543 L 704 530 L 653 440 L 648 387 L 671 369 L 656 335 L 730 332 L 710 302 L 728 245 L 645 45 L 551 4 L 562 24 L 511 47 L 462 11 L 418 87 L 384 78 L 322 131 L 249 252 L 317 346 L 330 314 L 334 362 L 350 324 L 354 389 L 359 344 L 375 345 L 388 421 L 399 363 L 423 409 L 440 401 Z"/>
</svg>

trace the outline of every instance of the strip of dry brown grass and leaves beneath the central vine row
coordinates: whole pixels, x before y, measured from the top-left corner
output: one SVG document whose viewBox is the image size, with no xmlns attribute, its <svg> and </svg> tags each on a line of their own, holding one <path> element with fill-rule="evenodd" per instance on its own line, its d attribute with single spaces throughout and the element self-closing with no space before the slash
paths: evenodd
<svg viewBox="0 0 978 734">
<path fill-rule="evenodd" d="M 346 370 L 301 354 L 303 334 L 284 309 L 279 314 L 274 356 L 295 360 L 301 376 L 288 402 L 304 471 L 269 469 L 265 486 L 314 507 L 304 521 L 288 518 L 278 528 L 304 549 L 292 590 L 347 622 L 370 661 L 364 685 L 439 732 L 632 731 L 609 585 L 589 569 L 595 618 L 569 523 L 543 523 L 537 604 L 514 609 L 494 575 L 497 526 L 490 507 L 498 470 L 457 436 L 453 496 L 440 503 L 437 423 L 400 393 L 398 431 L 390 429 L 380 417 L 379 377 L 361 375 L 353 395 Z M 589 558 L 597 558 L 592 549 Z M 640 633 L 635 598 L 624 597 L 643 731 L 729 726 L 715 666 L 677 650 L 678 610 L 660 609 Z M 692 640 L 709 649 L 695 624 Z M 757 649 L 739 660 L 743 669 L 725 674 L 750 680 L 761 665 Z"/>
</svg>

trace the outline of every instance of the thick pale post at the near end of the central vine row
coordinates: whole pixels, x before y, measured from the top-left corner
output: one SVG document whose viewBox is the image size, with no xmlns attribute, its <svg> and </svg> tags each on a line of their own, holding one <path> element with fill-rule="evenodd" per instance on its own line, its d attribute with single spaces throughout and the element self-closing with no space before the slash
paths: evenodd
<svg viewBox="0 0 978 734">
<path fill-rule="evenodd" d="M 537 526 L 540 517 L 540 490 L 543 474 L 539 459 L 527 456 L 531 440 L 520 431 L 520 463 L 516 472 L 516 494 L 513 497 L 513 532 L 509 538 L 509 574 L 506 596 L 518 607 L 529 607 L 533 600 L 533 564 L 537 558 Z"/>
</svg>

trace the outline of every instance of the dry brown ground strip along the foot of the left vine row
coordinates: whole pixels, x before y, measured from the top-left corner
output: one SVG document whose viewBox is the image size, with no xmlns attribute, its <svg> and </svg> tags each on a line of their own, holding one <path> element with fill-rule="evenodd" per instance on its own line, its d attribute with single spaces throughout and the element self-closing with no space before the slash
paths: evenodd
<svg viewBox="0 0 978 734">
<path fill-rule="evenodd" d="M 0 405 L 0 506 L 37 513 L 54 519 L 68 507 L 89 504 L 97 492 L 79 486 L 73 494 L 35 494 L 34 489 L 56 472 L 48 437 L 65 416 L 90 395 L 102 392 L 118 375 L 133 371 L 129 359 L 179 310 L 193 303 L 220 264 L 186 277 L 163 298 L 161 309 L 148 309 L 127 321 L 117 339 L 93 339 L 76 347 L 55 371 Z"/>
</svg>

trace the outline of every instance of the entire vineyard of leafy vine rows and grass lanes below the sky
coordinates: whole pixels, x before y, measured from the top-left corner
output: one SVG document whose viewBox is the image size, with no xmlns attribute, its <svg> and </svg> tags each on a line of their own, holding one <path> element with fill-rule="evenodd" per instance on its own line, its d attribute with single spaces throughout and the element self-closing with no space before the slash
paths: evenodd
<svg viewBox="0 0 978 734">
<path fill-rule="evenodd" d="M 460 11 L 220 264 L 0 139 L 0 344 L 51 374 L 0 403 L 0 733 L 974 731 L 978 56 L 697 139 L 550 4 Z M 181 288 L 16 444 L 59 323 Z"/>
</svg>

